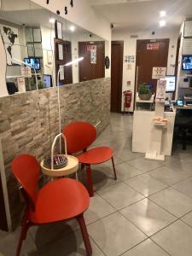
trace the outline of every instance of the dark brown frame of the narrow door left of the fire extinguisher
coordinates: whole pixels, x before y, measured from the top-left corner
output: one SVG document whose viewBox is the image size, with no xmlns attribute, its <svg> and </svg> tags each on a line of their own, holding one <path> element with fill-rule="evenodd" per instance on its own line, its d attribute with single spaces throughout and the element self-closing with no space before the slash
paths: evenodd
<svg viewBox="0 0 192 256">
<path fill-rule="evenodd" d="M 120 64 L 120 71 L 119 71 L 119 84 L 120 84 L 120 96 L 119 96 L 119 112 L 118 113 L 122 113 L 122 95 L 123 95 L 123 64 L 124 64 L 124 41 L 123 40 L 113 40 L 111 41 L 111 52 L 112 52 L 112 47 L 113 45 L 119 44 L 121 46 L 121 52 L 120 54 L 122 55 L 122 61 Z M 112 61 L 112 58 L 111 58 Z M 112 65 L 111 65 L 112 67 Z M 112 68 L 111 68 L 111 73 L 112 73 Z M 112 77 L 112 76 L 111 76 Z M 112 95 L 111 95 L 112 96 Z M 111 105 L 112 107 L 112 105 Z M 110 108 L 111 109 L 111 108 Z"/>
</svg>

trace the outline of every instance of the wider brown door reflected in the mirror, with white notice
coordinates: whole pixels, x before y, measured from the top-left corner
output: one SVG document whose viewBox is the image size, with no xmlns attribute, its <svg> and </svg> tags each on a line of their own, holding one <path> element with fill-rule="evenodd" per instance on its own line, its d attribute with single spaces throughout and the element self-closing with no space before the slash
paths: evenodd
<svg viewBox="0 0 192 256">
<path fill-rule="evenodd" d="M 91 44 L 90 44 L 91 43 Z M 91 47 L 96 45 L 96 63 L 91 63 Z M 105 77 L 105 42 L 79 42 L 79 82 Z"/>
</svg>

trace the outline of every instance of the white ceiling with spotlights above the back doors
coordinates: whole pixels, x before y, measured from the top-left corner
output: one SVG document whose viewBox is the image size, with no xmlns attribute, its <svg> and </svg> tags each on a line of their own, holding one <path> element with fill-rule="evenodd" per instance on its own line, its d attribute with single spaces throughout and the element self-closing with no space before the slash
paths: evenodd
<svg viewBox="0 0 192 256">
<path fill-rule="evenodd" d="M 90 4 L 114 24 L 114 30 L 159 29 L 160 10 L 167 13 L 164 30 L 178 30 L 185 18 L 192 17 L 192 0 L 90 0 Z"/>
</svg>

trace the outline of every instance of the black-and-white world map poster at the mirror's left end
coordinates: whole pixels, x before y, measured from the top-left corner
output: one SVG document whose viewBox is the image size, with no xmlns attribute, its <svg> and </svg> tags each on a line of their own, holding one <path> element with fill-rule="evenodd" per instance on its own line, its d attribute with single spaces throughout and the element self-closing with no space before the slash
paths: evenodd
<svg viewBox="0 0 192 256">
<path fill-rule="evenodd" d="M 0 32 L 6 50 L 7 64 L 18 65 L 17 61 L 14 61 L 14 59 L 21 60 L 18 29 L 13 26 L 0 25 Z"/>
</svg>

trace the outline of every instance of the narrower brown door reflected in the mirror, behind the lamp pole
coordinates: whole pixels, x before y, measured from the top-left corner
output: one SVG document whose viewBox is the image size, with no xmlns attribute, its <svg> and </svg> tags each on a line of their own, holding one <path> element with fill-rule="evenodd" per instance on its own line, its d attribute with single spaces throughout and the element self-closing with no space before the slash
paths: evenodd
<svg viewBox="0 0 192 256">
<path fill-rule="evenodd" d="M 59 58 L 59 44 L 62 46 L 63 60 Z M 59 67 L 72 61 L 72 46 L 71 42 L 63 41 L 55 38 L 55 75 L 57 81 L 57 73 Z M 64 79 L 60 79 L 61 84 L 73 84 L 72 65 L 64 67 Z"/>
</svg>

